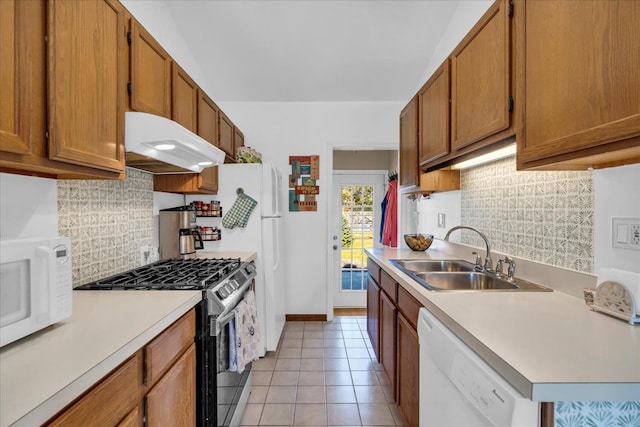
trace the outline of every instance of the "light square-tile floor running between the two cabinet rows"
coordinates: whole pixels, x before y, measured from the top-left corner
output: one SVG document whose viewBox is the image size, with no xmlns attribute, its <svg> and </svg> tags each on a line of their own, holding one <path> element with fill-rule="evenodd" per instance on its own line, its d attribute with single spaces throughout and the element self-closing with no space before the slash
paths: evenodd
<svg viewBox="0 0 640 427">
<path fill-rule="evenodd" d="M 278 349 L 253 363 L 241 425 L 403 425 L 366 321 L 287 322 Z"/>
</svg>

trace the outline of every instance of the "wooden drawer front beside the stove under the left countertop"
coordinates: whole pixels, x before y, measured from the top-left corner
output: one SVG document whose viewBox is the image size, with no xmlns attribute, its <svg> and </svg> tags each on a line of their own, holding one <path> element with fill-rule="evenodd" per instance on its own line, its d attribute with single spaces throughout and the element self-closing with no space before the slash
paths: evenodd
<svg viewBox="0 0 640 427">
<path fill-rule="evenodd" d="M 193 343 L 195 334 L 195 312 L 191 310 L 145 347 L 145 378 L 148 387 Z"/>
</svg>

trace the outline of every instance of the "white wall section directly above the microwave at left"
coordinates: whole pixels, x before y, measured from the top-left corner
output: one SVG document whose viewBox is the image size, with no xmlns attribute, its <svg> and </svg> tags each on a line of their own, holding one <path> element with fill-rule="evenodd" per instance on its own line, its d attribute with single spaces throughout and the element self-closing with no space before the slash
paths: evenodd
<svg viewBox="0 0 640 427">
<path fill-rule="evenodd" d="M 55 179 L 0 173 L 0 239 L 58 235 Z"/>
</svg>

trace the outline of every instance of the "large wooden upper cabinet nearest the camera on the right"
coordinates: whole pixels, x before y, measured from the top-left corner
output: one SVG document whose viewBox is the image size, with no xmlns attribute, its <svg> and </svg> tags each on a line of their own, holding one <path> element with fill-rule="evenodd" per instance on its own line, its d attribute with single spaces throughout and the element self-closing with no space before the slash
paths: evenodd
<svg viewBox="0 0 640 427">
<path fill-rule="evenodd" d="M 640 2 L 518 2 L 519 169 L 640 162 Z"/>
</svg>

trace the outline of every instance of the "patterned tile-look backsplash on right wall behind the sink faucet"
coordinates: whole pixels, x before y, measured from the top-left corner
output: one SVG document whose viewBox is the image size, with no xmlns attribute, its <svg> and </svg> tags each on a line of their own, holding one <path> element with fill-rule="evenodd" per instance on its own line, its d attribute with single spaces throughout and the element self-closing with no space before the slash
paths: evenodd
<svg viewBox="0 0 640 427">
<path fill-rule="evenodd" d="M 463 170 L 460 188 L 462 224 L 484 232 L 492 250 L 592 272 L 592 172 L 516 172 L 514 156 Z M 461 242 L 484 247 L 471 231 Z"/>
</svg>

